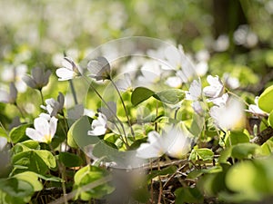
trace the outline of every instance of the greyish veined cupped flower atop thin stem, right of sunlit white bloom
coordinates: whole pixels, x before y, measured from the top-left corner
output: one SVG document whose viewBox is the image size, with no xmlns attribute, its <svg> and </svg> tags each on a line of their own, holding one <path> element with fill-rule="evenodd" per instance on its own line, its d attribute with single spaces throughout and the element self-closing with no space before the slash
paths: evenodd
<svg viewBox="0 0 273 204">
<path fill-rule="evenodd" d="M 87 69 L 91 73 L 89 76 L 96 81 L 111 79 L 110 64 L 105 57 L 99 56 L 87 64 Z"/>
</svg>

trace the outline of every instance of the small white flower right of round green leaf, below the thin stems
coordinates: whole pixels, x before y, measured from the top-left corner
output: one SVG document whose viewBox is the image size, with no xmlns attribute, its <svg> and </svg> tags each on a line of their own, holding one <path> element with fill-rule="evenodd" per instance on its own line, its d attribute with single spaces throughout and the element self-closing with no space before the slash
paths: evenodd
<svg viewBox="0 0 273 204">
<path fill-rule="evenodd" d="M 92 130 L 87 131 L 87 134 L 91 136 L 103 135 L 106 133 L 106 130 L 107 130 L 106 126 L 107 126 L 106 116 L 103 113 L 98 112 L 97 118 L 92 121 L 92 124 L 91 124 Z"/>
</svg>

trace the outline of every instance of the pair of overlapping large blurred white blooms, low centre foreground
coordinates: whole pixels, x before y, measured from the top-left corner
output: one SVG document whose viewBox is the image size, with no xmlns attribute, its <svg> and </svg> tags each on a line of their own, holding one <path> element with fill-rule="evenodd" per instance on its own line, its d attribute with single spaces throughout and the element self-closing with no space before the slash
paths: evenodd
<svg viewBox="0 0 273 204">
<path fill-rule="evenodd" d="M 183 157 L 190 150 L 192 136 L 183 122 L 175 127 L 168 126 L 162 136 L 157 131 L 150 131 L 147 142 L 142 143 L 136 150 L 136 156 L 142 159 L 151 159 L 167 154 L 174 158 Z"/>
</svg>

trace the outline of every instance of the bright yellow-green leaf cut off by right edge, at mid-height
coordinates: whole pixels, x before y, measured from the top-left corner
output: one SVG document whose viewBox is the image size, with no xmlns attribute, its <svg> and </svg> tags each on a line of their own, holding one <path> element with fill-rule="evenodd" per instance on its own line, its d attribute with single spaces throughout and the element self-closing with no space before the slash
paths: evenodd
<svg viewBox="0 0 273 204">
<path fill-rule="evenodd" d="M 269 86 L 258 98 L 258 107 L 264 112 L 273 110 L 273 85 Z"/>
</svg>

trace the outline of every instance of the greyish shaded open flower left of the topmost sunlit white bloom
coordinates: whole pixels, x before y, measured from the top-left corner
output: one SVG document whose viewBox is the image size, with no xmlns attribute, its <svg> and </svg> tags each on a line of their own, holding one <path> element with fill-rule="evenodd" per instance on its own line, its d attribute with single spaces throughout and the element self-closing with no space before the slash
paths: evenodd
<svg viewBox="0 0 273 204">
<path fill-rule="evenodd" d="M 31 70 L 31 76 L 25 75 L 23 81 L 31 88 L 41 90 L 49 80 L 50 70 L 46 72 L 40 67 L 35 67 Z"/>
</svg>

